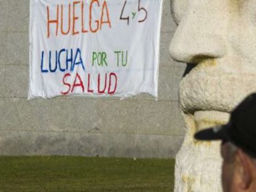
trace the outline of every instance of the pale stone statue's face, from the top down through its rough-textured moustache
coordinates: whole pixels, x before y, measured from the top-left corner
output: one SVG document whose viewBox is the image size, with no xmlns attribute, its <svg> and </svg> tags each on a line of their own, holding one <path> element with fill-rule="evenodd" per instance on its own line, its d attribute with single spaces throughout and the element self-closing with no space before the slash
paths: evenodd
<svg viewBox="0 0 256 192">
<path fill-rule="evenodd" d="M 182 111 L 230 112 L 256 91 L 256 0 L 171 0 L 171 10 L 169 52 L 188 65 Z"/>
</svg>

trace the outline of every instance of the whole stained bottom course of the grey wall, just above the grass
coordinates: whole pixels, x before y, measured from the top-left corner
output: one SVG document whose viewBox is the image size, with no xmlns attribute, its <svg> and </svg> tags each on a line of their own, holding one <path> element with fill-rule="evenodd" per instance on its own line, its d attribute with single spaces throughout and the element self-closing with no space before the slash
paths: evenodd
<svg viewBox="0 0 256 192">
<path fill-rule="evenodd" d="M 182 138 L 84 132 L 0 131 L 0 155 L 170 158 L 175 156 Z"/>
</svg>

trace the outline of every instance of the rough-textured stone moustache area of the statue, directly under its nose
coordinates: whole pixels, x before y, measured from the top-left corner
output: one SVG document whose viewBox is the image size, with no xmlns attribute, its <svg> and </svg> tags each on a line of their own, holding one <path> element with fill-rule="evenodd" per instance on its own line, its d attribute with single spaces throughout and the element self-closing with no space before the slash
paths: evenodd
<svg viewBox="0 0 256 192">
<path fill-rule="evenodd" d="M 255 78 L 252 72 L 224 72 L 215 65 L 198 64 L 181 80 L 180 107 L 186 114 L 231 112 L 247 94 L 256 90 L 256 83 L 252 83 Z"/>
</svg>

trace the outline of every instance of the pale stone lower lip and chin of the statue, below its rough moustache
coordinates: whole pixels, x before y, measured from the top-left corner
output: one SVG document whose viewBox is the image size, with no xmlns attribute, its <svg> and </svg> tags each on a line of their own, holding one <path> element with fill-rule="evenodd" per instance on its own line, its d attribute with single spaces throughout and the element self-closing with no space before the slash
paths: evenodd
<svg viewBox="0 0 256 192">
<path fill-rule="evenodd" d="M 195 141 L 195 131 L 228 122 L 229 114 L 197 111 L 184 114 L 186 136 L 176 156 L 174 191 L 221 191 L 220 141 Z"/>
</svg>

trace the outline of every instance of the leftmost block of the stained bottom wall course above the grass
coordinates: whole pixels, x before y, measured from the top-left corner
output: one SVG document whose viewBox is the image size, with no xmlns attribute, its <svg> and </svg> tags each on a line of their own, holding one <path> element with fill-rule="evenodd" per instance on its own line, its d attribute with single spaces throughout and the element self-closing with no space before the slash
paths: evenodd
<svg viewBox="0 0 256 192">
<path fill-rule="evenodd" d="M 66 155 L 66 133 L 0 131 L 1 156 Z"/>
</svg>

